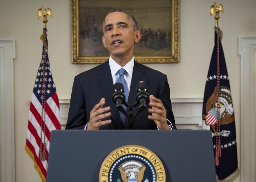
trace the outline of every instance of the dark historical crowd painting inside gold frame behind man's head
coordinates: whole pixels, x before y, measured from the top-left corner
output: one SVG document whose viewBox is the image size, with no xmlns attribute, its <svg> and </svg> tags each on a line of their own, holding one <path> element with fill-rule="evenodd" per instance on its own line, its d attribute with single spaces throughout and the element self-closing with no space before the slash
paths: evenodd
<svg viewBox="0 0 256 182">
<path fill-rule="evenodd" d="M 177 0 L 76 0 L 78 1 L 78 54 L 79 57 L 108 57 L 109 52 L 101 42 L 105 15 L 113 8 L 132 13 L 142 32 L 135 44 L 134 57 L 172 57 L 174 51 L 172 1 Z M 176 35 L 176 40 L 177 41 Z M 177 43 L 176 43 L 177 44 Z M 177 46 L 176 46 L 177 49 Z M 177 56 L 176 56 L 177 57 Z M 175 60 L 178 61 L 177 59 Z"/>
</svg>

